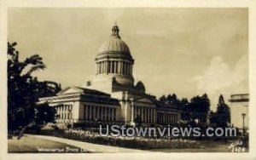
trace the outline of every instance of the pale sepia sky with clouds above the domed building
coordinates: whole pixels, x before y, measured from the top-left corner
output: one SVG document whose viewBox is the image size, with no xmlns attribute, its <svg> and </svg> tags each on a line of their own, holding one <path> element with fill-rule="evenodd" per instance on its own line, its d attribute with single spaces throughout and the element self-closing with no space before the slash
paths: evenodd
<svg viewBox="0 0 256 160">
<path fill-rule="evenodd" d="M 215 111 L 219 94 L 229 104 L 230 94 L 248 93 L 247 9 L 11 8 L 8 16 L 20 59 L 42 56 L 47 68 L 33 76 L 62 88 L 93 77 L 116 21 L 135 60 L 133 77 L 148 94 L 207 93 Z"/>
</svg>

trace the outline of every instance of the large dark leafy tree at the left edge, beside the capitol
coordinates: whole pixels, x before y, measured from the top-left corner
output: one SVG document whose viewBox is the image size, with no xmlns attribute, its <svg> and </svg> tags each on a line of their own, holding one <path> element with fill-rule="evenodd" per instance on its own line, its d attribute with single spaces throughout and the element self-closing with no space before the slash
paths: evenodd
<svg viewBox="0 0 256 160">
<path fill-rule="evenodd" d="M 44 70 L 43 59 L 34 54 L 20 61 L 16 45 L 17 43 L 8 43 L 7 53 L 9 134 L 19 134 L 28 125 L 35 123 L 35 109 L 39 97 L 54 95 L 61 90 L 57 83 L 39 82 L 37 77 L 32 77 L 34 71 Z M 48 105 L 44 108 L 46 106 Z"/>
</svg>

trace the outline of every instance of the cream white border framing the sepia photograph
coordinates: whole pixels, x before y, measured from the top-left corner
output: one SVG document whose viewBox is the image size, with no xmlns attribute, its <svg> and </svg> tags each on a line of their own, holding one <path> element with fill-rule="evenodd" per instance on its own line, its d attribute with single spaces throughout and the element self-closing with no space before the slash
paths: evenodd
<svg viewBox="0 0 256 160">
<path fill-rule="evenodd" d="M 250 142 L 248 153 L 7 153 L 7 10 L 12 7 L 50 8 L 248 8 Z M 256 0 L 0 0 L 0 159 L 256 159 Z"/>
</svg>

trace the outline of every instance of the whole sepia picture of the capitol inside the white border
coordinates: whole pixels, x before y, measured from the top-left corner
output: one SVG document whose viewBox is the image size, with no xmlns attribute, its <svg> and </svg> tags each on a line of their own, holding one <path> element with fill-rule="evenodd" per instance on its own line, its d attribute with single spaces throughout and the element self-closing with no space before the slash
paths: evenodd
<svg viewBox="0 0 256 160">
<path fill-rule="evenodd" d="M 8 153 L 249 152 L 247 8 L 9 8 Z"/>
</svg>

